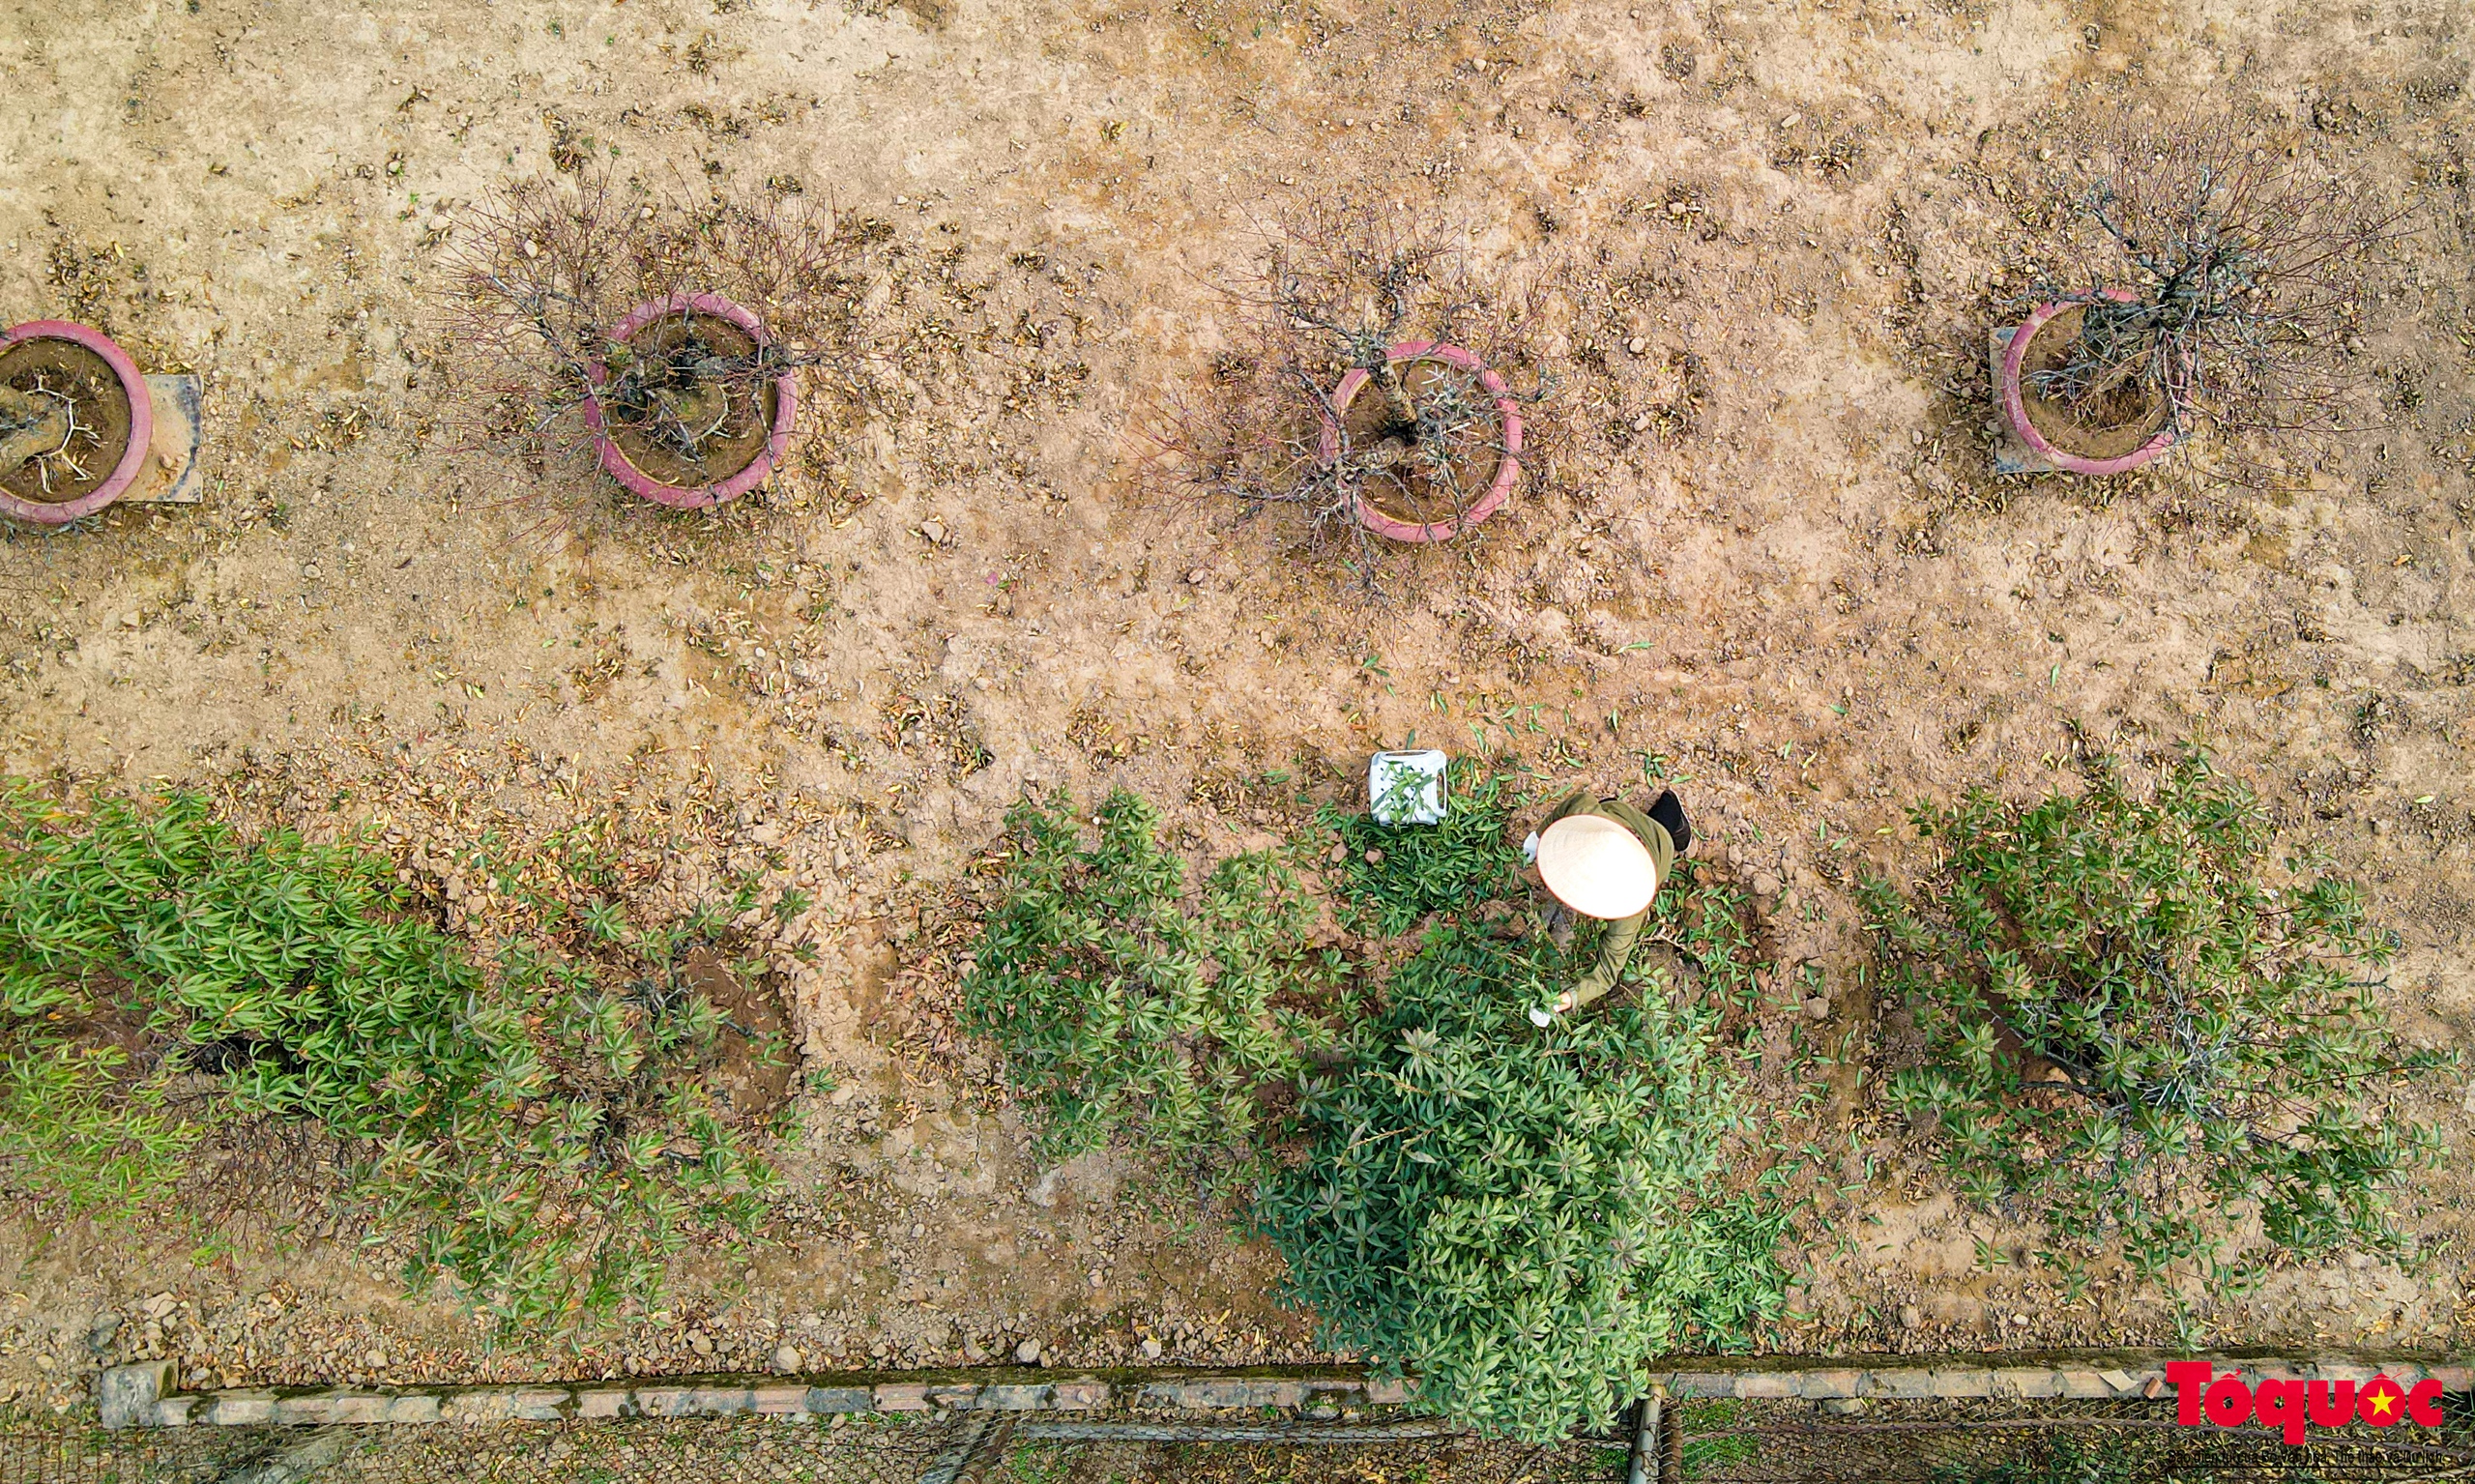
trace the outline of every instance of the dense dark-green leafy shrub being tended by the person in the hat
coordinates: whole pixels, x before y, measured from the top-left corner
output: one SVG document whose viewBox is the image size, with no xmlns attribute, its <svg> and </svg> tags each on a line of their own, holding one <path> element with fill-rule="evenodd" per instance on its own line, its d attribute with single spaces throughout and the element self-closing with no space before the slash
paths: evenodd
<svg viewBox="0 0 2475 1484">
<path fill-rule="evenodd" d="M 1742 1128 L 1718 1009 L 1641 1004 L 1539 1031 L 1562 955 L 1428 932 L 1359 1056 L 1309 1083 L 1309 1153 L 1257 1222 L 1327 1343 L 1413 1370 L 1453 1417 L 1530 1439 L 1606 1427 L 1676 1348 L 1777 1318 L 1787 1212 L 1713 1200 Z"/>
</svg>

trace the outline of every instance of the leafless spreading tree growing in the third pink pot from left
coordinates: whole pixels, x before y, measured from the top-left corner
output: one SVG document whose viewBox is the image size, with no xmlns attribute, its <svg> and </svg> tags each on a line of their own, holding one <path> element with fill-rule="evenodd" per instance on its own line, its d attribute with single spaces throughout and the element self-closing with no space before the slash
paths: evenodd
<svg viewBox="0 0 2475 1484">
<path fill-rule="evenodd" d="M 1257 237 L 1218 289 L 1228 349 L 1143 420 L 1146 477 L 1240 522 L 1289 512 L 1307 549 L 1371 581 L 1381 537 L 1361 510 L 1460 522 L 1512 453 L 1485 378 L 1537 376 L 1539 294 L 1483 267 L 1465 232 L 1384 205 L 1299 208 Z M 1396 354 L 1406 341 L 1478 366 Z"/>
</svg>

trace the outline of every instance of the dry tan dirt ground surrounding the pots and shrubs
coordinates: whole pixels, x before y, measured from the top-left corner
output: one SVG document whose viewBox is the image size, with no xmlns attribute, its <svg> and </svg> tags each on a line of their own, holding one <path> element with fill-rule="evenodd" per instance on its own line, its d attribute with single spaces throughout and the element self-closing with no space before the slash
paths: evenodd
<svg viewBox="0 0 2475 1484">
<path fill-rule="evenodd" d="M 0 764 L 376 821 L 441 881 L 480 831 L 604 821 L 646 903 L 767 868 L 814 1071 L 785 1242 L 668 1311 L 493 1345 L 349 1244 L 0 1227 L 0 1388 L 106 1355 L 230 1380 L 540 1368 L 1309 1353 L 1277 1259 L 1121 1160 L 1042 1170 L 950 1024 L 940 903 L 1027 784 L 1129 784 L 1193 851 L 1294 824 L 1376 744 L 1485 740 L 1547 782 L 1693 774 L 1708 843 L 1846 1046 L 1881 1160 L 1807 1222 L 1789 1348 L 2158 1338 L 2064 1306 L 1921 1172 L 1864 1068 L 1854 853 L 1913 796 L 2030 791 L 2086 727 L 2200 737 L 2406 935 L 2398 1017 L 2465 1044 L 2475 571 L 2463 10 L 2223 0 L 500 0 L 0 15 L 0 312 L 205 378 L 208 497 L 0 539 Z M 1997 485 L 1982 346 L 2025 282 L 2012 163 L 2074 89 L 2218 89 L 2428 205 L 2359 356 L 2391 425 L 2272 495 Z M 901 396 L 710 517 L 450 455 L 423 287 L 455 213 L 594 156 L 792 186 L 893 237 L 856 304 Z M 1309 198 L 1470 223 L 1559 287 L 1544 458 L 1366 599 L 1270 527 L 1146 507 L 1129 430 L 1228 329 L 1213 284 Z M 2007 277 L 2000 277 L 2007 275 Z M 1636 433 L 1636 423 L 1643 433 Z M 792 950 L 814 947 L 814 965 Z M 1802 1009 L 1782 997 L 1784 1026 Z M 2203 1301 L 2218 1338 L 2460 1338 L 2460 1086 L 2391 1111 L 2450 1165 L 2411 1271 Z M 1851 1180 L 1854 1185 L 1854 1180 Z M 1841 1239 L 1854 1237 L 1846 1247 Z M 1980 1254 L 2015 1261 L 1980 1266 Z"/>
</svg>

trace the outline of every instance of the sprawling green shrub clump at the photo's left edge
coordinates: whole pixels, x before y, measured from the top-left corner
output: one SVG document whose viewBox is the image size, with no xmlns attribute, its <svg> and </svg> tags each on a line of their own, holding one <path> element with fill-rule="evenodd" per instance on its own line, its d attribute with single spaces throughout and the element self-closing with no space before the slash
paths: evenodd
<svg viewBox="0 0 2475 1484">
<path fill-rule="evenodd" d="M 74 814 L 10 787 L 0 1098 L 10 1128 L 69 1138 L 0 1153 L 20 1190 L 126 1207 L 196 1138 L 163 1078 L 203 1076 L 223 1108 L 356 1150 L 371 1242 L 413 1286 L 453 1279 L 510 1323 L 604 1311 L 691 1234 L 755 1224 L 772 1180 L 705 1091 L 713 1007 L 658 957 L 634 970 L 609 984 L 537 942 L 475 965 L 411 913 L 394 861 L 245 838 L 196 794 Z M 144 1024 L 153 1066 L 99 1061 L 82 1017 Z"/>
</svg>

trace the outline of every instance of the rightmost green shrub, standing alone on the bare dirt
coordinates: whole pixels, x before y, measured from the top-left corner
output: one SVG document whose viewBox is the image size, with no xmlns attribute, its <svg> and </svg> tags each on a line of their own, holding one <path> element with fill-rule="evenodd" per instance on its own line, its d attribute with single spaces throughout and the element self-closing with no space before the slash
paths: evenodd
<svg viewBox="0 0 2475 1484">
<path fill-rule="evenodd" d="M 2240 1281 L 2237 1202 L 2292 1254 L 2396 1244 L 2383 1190 L 2438 1138 L 2369 1103 L 2453 1059 L 2386 1026 L 2393 940 L 2354 883 L 2299 858 L 2262 881 L 2250 789 L 2193 749 L 2146 799 L 2096 762 L 2077 799 L 1975 791 L 1911 819 L 1938 868 L 1859 888 L 1928 1041 L 1888 1093 L 1968 1195 L 2027 1200 L 2091 1249 L 2116 1237 L 2151 1274 Z"/>
</svg>

